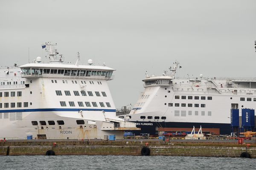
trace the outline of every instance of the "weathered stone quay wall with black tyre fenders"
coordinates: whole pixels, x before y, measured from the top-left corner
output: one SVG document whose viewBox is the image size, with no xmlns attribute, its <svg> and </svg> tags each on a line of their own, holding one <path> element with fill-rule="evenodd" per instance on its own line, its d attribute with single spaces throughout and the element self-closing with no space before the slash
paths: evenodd
<svg viewBox="0 0 256 170">
<path fill-rule="evenodd" d="M 18 155 L 128 155 L 128 156 L 204 156 L 256 158 L 255 140 L 172 139 L 38 139 L 0 142 L 1 156 Z"/>
</svg>

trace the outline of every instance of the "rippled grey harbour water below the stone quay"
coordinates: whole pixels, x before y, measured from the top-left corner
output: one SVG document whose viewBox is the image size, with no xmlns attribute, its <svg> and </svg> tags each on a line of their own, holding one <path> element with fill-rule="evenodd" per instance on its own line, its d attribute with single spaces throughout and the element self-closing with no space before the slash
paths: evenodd
<svg viewBox="0 0 256 170">
<path fill-rule="evenodd" d="M 180 156 L 0 156 L 1 170 L 255 170 L 256 159 Z"/>
</svg>

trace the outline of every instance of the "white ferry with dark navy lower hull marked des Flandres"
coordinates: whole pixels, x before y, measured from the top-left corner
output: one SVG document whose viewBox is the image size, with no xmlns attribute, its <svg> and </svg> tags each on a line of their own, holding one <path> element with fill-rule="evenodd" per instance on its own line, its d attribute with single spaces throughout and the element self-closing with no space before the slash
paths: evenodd
<svg viewBox="0 0 256 170">
<path fill-rule="evenodd" d="M 141 127 L 140 133 L 202 130 L 230 134 L 230 111 L 256 108 L 256 78 L 175 77 L 179 63 L 162 76 L 148 76 L 145 90 L 127 115 L 119 116 Z M 136 132 L 135 132 L 136 133 Z"/>
</svg>

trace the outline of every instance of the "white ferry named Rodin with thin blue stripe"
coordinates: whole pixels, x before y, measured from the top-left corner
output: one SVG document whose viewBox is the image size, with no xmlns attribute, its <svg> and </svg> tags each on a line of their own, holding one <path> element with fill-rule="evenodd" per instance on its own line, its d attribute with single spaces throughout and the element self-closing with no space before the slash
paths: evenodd
<svg viewBox="0 0 256 170">
<path fill-rule="evenodd" d="M 116 117 L 107 81 L 113 68 L 64 64 L 56 44 L 42 45 L 49 63 L 0 69 L 0 139 L 122 138 L 135 123 Z"/>
</svg>

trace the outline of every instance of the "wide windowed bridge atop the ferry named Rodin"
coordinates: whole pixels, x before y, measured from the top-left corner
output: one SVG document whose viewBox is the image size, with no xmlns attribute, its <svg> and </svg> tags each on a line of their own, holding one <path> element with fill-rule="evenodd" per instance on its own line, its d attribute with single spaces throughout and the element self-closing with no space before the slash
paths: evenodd
<svg viewBox="0 0 256 170">
<path fill-rule="evenodd" d="M 106 66 L 95 65 L 67 65 L 67 64 L 44 64 L 29 63 L 20 66 L 23 78 L 37 77 L 72 77 L 72 78 L 95 78 L 113 79 L 115 69 Z"/>
</svg>

